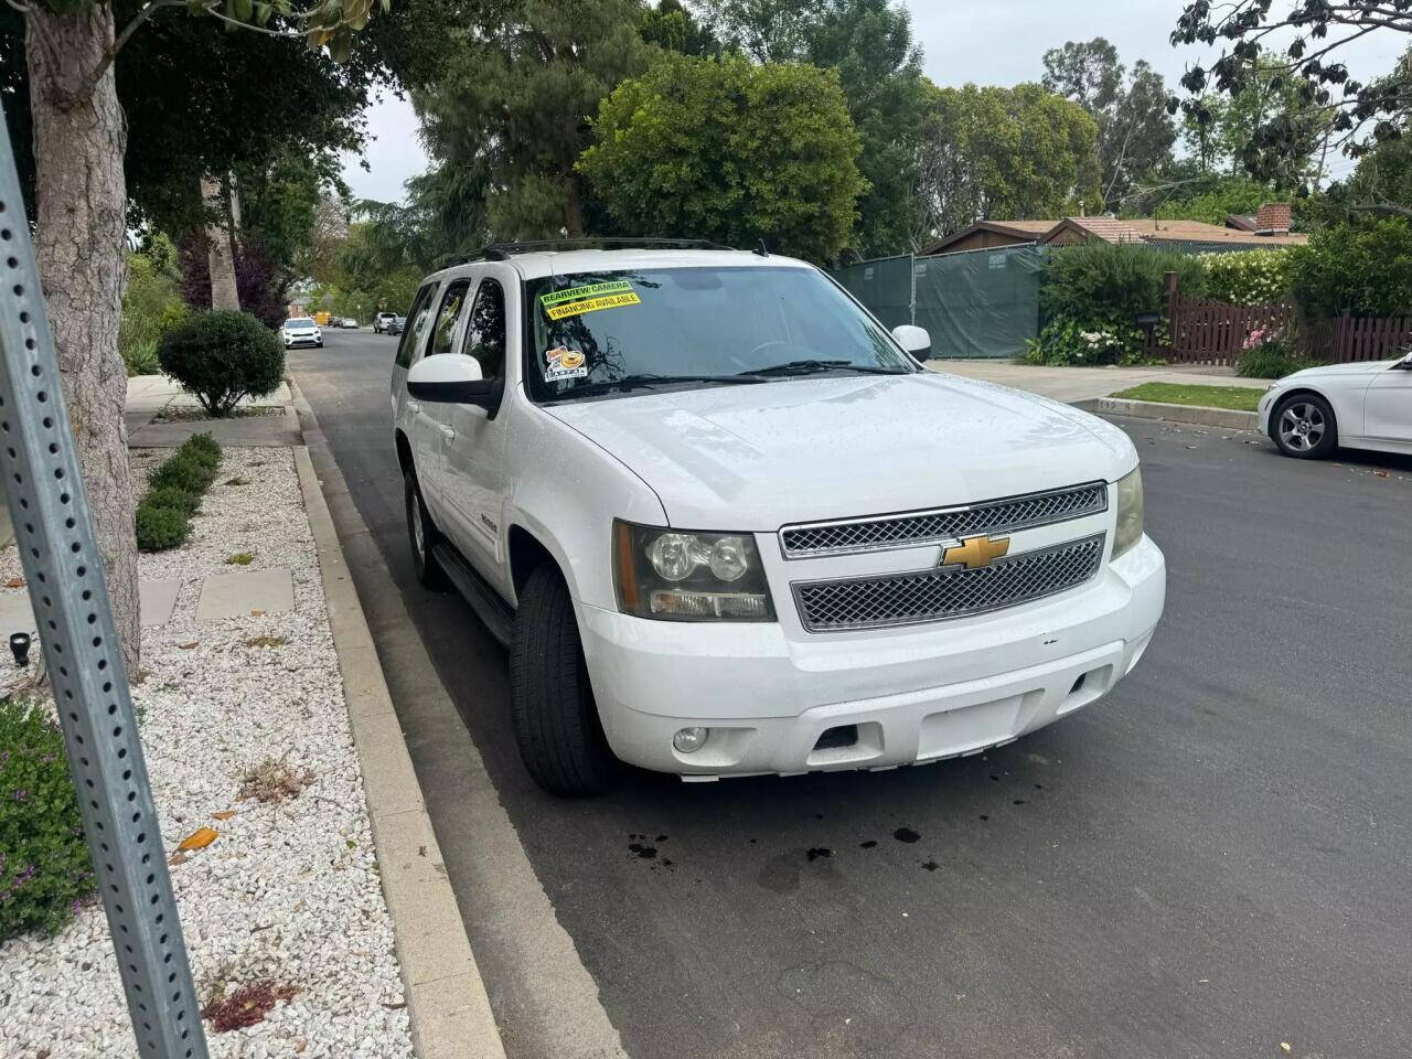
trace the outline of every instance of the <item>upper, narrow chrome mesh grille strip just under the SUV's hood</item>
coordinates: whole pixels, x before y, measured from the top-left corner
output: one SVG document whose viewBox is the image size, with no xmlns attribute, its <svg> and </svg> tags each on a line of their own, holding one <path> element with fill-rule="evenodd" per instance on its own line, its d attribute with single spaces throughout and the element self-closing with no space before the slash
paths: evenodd
<svg viewBox="0 0 1412 1059">
<path fill-rule="evenodd" d="M 779 545 L 786 559 L 806 559 L 839 552 L 873 552 L 915 548 L 971 534 L 995 534 L 1032 525 L 1083 518 L 1108 508 L 1108 487 L 1101 481 L 986 500 L 962 507 L 912 511 L 902 515 L 786 525 Z"/>
</svg>

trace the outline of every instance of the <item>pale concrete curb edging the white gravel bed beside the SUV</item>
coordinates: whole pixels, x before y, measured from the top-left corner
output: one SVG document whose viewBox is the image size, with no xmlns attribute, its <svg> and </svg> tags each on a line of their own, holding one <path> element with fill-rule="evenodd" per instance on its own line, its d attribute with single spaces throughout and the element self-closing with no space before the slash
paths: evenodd
<svg viewBox="0 0 1412 1059">
<path fill-rule="evenodd" d="M 466 925 L 306 445 L 294 448 L 418 1059 L 504 1059 Z"/>
</svg>

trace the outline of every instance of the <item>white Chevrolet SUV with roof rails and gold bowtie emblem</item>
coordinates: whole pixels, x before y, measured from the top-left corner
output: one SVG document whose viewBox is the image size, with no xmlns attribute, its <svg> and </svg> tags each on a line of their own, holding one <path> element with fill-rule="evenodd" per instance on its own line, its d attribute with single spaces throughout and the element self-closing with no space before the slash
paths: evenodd
<svg viewBox="0 0 1412 1059">
<path fill-rule="evenodd" d="M 407 521 L 559 794 L 921 764 L 1107 693 L 1162 614 L 1132 443 L 919 367 L 802 261 L 491 249 L 393 367 Z"/>
</svg>

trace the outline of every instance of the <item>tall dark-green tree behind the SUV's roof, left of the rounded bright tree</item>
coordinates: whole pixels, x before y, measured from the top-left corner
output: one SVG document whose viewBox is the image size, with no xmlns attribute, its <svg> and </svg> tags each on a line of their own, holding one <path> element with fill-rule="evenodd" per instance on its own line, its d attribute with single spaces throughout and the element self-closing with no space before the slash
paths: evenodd
<svg viewBox="0 0 1412 1059">
<path fill-rule="evenodd" d="M 442 168 L 484 181 L 501 239 L 585 232 L 580 176 L 589 114 L 647 68 L 637 0 L 518 0 L 455 47 L 412 99 Z"/>
</svg>

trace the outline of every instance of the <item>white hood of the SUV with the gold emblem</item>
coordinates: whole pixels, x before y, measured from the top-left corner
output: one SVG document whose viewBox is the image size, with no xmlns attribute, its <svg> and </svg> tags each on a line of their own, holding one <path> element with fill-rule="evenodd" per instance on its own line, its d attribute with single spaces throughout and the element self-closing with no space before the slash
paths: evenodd
<svg viewBox="0 0 1412 1059">
<path fill-rule="evenodd" d="M 688 530 L 945 507 L 1127 473 L 1108 424 L 935 371 L 826 376 L 546 405 Z"/>
</svg>

